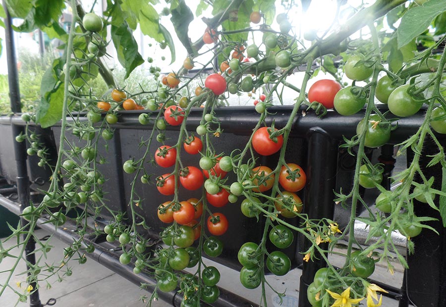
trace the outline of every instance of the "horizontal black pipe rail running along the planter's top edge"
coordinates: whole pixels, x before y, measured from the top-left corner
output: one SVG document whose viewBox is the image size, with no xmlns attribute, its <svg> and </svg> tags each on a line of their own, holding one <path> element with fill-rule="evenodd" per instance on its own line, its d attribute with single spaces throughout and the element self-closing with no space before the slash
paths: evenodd
<svg viewBox="0 0 446 307">
<path fill-rule="evenodd" d="M 277 128 L 283 127 L 288 121 L 292 108 L 292 105 L 272 106 L 268 108 L 268 111 L 273 114 L 266 118 L 266 124 L 270 125 L 274 120 Z M 382 112 L 388 110 L 387 105 L 378 105 L 378 108 L 382 110 Z M 216 117 L 221 121 L 221 128 L 223 131 L 236 135 L 250 135 L 252 129 L 256 126 L 260 118 L 260 114 L 255 111 L 253 106 L 226 106 L 216 108 L 215 111 Z M 291 128 L 291 136 L 305 137 L 309 129 L 320 127 L 327 131 L 332 138 L 337 140 L 342 141 L 343 136 L 351 138 L 356 135 L 356 126 L 364 117 L 364 111 L 365 110 L 350 116 L 342 116 L 334 110 L 329 110 L 323 118 L 319 118 L 313 111 L 305 111 L 305 108 L 303 107 L 294 120 L 293 127 Z M 188 130 L 192 131 L 200 125 L 202 112 L 202 108 L 192 108 L 186 123 L 186 128 Z M 138 114 L 149 113 L 153 114 L 151 118 L 155 118 L 158 112 L 122 111 L 118 113 L 119 119 L 116 124 L 112 125 L 113 128 L 142 130 L 152 129 L 153 122 L 148 125 L 141 125 L 138 121 Z M 407 139 L 408 135 L 414 134 L 420 128 L 420 125 L 424 120 L 424 113 L 425 110 L 422 109 L 415 115 L 398 119 L 398 128 L 391 132 L 391 144 L 401 143 Z M 303 116 L 303 114 L 305 114 L 305 116 Z M 72 119 L 68 118 L 67 120 L 71 121 Z M 85 121 L 87 121 L 86 117 Z M 12 123 L 25 125 L 20 116 L 13 116 Z M 0 124 L 10 124 L 9 117 L 0 117 Z M 57 123 L 55 126 L 60 126 L 60 123 Z M 167 130 L 177 129 L 178 127 L 167 125 Z"/>
</svg>

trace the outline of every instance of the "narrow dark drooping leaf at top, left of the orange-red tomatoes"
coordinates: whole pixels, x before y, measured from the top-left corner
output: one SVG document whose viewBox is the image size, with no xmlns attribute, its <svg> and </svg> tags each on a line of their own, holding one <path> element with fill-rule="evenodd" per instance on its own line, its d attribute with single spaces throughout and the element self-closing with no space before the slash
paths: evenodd
<svg viewBox="0 0 446 307">
<path fill-rule="evenodd" d="M 187 53 L 194 54 L 195 52 L 192 48 L 190 38 L 188 35 L 189 24 L 191 23 L 192 20 L 194 20 L 194 14 L 190 10 L 189 6 L 186 5 L 184 0 L 179 1 L 178 6 L 175 9 L 173 9 L 171 13 L 172 17 L 170 17 L 170 21 L 172 22 L 173 27 L 175 28 L 175 32 L 176 35 L 178 36 L 178 39 L 180 40 L 181 44 L 183 44 L 184 48 L 186 48 Z M 165 30 L 165 32 L 168 34 L 167 30 Z M 170 46 L 173 47 L 173 42 L 168 43 L 168 46 L 169 48 Z M 174 53 L 175 52 L 173 51 L 173 54 Z M 173 63 L 173 61 L 174 58 L 172 58 L 172 61 L 170 63 Z"/>
</svg>

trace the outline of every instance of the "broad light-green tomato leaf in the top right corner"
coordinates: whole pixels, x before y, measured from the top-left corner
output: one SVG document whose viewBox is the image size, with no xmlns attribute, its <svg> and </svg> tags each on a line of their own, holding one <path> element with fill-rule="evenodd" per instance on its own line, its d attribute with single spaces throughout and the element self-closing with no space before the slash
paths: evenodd
<svg viewBox="0 0 446 307">
<path fill-rule="evenodd" d="M 396 30 L 398 49 L 424 33 L 432 20 L 445 11 L 444 0 L 429 0 L 421 6 L 409 9 L 401 18 L 401 23 Z"/>
</svg>

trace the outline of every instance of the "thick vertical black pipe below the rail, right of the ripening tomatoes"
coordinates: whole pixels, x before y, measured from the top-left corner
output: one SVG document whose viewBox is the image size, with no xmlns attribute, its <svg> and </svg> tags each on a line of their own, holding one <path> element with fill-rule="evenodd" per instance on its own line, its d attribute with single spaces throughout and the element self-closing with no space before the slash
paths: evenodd
<svg viewBox="0 0 446 307">
<path fill-rule="evenodd" d="M 308 131 L 308 163 L 307 186 L 305 187 L 305 213 L 310 219 L 333 218 L 334 203 L 333 191 L 336 187 L 336 164 L 338 142 L 324 129 L 311 128 Z M 317 157 L 315 159 L 314 157 Z M 312 243 L 304 240 L 303 251 L 308 250 Z M 323 250 L 328 244 L 319 245 Z M 326 266 L 321 255 L 313 255 L 313 260 L 304 261 L 300 277 L 299 307 L 311 307 L 307 299 L 308 286 L 313 282 L 314 274 Z"/>
</svg>

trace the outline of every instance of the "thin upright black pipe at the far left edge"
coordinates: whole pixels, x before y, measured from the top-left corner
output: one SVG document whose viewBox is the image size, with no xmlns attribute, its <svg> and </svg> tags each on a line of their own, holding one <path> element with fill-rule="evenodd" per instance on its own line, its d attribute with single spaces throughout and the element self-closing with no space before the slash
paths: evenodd
<svg viewBox="0 0 446 307">
<path fill-rule="evenodd" d="M 11 111 L 13 113 L 21 112 L 20 105 L 20 90 L 18 81 L 18 71 L 17 71 L 17 60 L 15 57 L 15 43 L 14 43 L 14 33 L 12 31 L 12 19 L 9 11 L 6 7 L 6 3 L 3 0 L 3 8 L 6 13 L 4 18 L 5 24 L 5 45 L 6 45 L 6 60 L 8 65 L 8 85 L 9 85 L 9 99 L 11 104 Z M 12 138 L 19 134 L 24 134 L 25 129 L 23 126 L 17 126 L 12 124 Z M 30 192 L 29 192 L 29 178 L 28 178 L 28 168 L 26 165 L 26 145 L 25 142 L 14 142 L 14 153 L 15 161 L 17 167 L 17 194 L 20 202 L 20 211 L 30 205 Z M 21 218 L 21 224 L 26 225 L 28 222 Z M 26 234 L 23 235 L 26 238 Z M 30 268 L 28 263 L 31 265 L 36 263 L 36 255 L 34 250 L 36 249 L 36 244 L 33 237 L 30 237 L 26 242 L 25 246 L 25 257 L 27 262 L 27 269 Z M 28 277 L 31 276 L 31 271 L 28 272 Z M 39 290 L 37 289 L 36 282 L 31 282 L 30 285 L 35 289 L 29 295 L 29 306 L 30 307 L 42 307 L 42 303 L 39 298 Z"/>
</svg>

